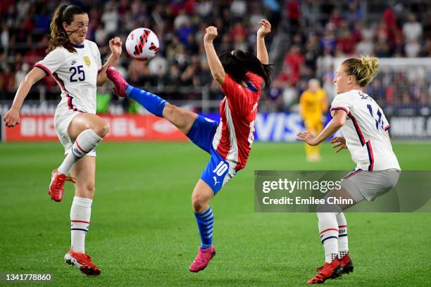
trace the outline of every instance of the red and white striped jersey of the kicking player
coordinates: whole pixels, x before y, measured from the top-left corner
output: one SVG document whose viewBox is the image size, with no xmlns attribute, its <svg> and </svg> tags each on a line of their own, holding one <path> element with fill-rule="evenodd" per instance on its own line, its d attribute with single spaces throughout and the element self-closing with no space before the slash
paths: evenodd
<svg viewBox="0 0 431 287">
<path fill-rule="evenodd" d="M 245 167 L 254 141 L 256 119 L 263 78 L 248 72 L 247 87 L 225 75 L 221 87 L 225 98 L 220 102 L 220 124 L 213 139 L 213 148 L 225 159 L 233 162 L 235 170 Z"/>
</svg>

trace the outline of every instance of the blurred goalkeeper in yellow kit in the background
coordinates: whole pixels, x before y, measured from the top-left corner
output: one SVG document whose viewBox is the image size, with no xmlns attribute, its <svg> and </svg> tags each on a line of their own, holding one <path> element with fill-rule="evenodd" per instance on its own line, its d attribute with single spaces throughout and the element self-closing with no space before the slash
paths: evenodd
<svg viewBox="0 0 431 287">
<path fill-rule="evenodd" d="M 325 91 L 320 89 L 318 79 L 310 79 L 308 81 L 308 89 L 301 94 L 299 108 L 306 130 L 313 134 L 319 134 L 323 127 L 322 116 L 327 110 L 327 101 Z M 305 148 L 309 162 L 320 160 L 319 146 L 309 146 L 306 144 Z"/>
</svg>

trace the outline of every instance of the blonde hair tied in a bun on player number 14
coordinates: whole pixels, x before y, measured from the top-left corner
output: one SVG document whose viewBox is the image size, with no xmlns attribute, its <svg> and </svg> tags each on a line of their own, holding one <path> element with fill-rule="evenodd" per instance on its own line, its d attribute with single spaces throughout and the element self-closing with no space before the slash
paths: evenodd
<svg viewBox="0 0 431 287">
<path fill-rule="evenodd" d="M 377 74 L 379 60 L 376 57 L 362 56 L 361 59 L 349 58 L 342 63 L 347 75 L 356 77 L 356 84 L 366 87 Z"/>
</svg>

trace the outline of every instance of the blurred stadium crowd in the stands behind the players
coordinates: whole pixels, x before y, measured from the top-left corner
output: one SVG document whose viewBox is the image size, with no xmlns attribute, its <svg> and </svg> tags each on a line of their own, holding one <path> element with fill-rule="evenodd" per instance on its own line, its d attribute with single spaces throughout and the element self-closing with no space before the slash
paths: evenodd
<svg viewBox="0 0 431 287">
<path fill-rule="evenodd" d="M 98 44 L 102 60 L 114 35 L 125 42 L 127 34 L 137 27 L 154 30 L 161 46 L 158 56 L 146 63 L 125 54 L 120 72 L 131 84 L 156 91 L 170 101 L 200 100 L 203 87 L 209 87 L 210 99 L 222 97 L 211 83 L 202 42 L 205 27 L 218 27 L 215 48 L 219 53 L 231 49 L 254 52 L 258 21 L 267 18 L 274 32 L 268 37 L 268 47 L 276 50 L 271 54 L 280 60 L 271 59 L 275 82 L 264 97 L 265 106 L 287 110 L 298 102 L 311 78 L 320 79 L 329 99 L 333 96 L 333 58 L 358 54 L 382 58 L 431 56 L 430 2 L 403 1 L 401 5 L 393 1 L 392 6 L 385 6 L 385 2 L 377 18 L 369 17 L 367 1 L 358 0 L 348 4 L 311 0 L 87 0 L 70 4 L 87 7 L 87 39 Z M 11 100 L 25 73 L 45 55 L 51 15 L 59 4 L 61 1 L 0 2 L 0 100 Z M 280 43 L 273 42 L 276 33 L 285 34 L 288 44 L 274 46 Z M 430 70 L 415 79 L 421 84 L 419 89 L 414 89 L 413 81 L 406 84 L 406 93 L 394 98 L 385 84 L 402 77 L 404 74 L 397 72 L 381 74 L 370 89 L 383 103 L 431 103 L 431 92 L 423 85 L 423 81 L 430 82 Z M 45 77 L 40 84 L 46 87 L 46 99 L 58 99 L 54 79 Z M 38 99 L 39 93 L 33 91 L 29 98 Z"/>
</svg>

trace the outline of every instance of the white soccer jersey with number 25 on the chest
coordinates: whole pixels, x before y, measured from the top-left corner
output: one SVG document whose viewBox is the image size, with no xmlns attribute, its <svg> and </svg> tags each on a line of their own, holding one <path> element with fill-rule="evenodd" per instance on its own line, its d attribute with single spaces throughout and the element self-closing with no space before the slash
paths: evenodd
<svg viewBox="0 0 431 287">
<path fill-rule="evenodd" d="M 77 53 L 57 47 L 36 63 L 37 68 L 51 75 L 61 88 L 61 101 L 56 115 L 67 110 L 96 113 L 96 81 L 101 68 L 100 51 L 96 43 L 85 40 L 75 45 Z"/>
</svg>

